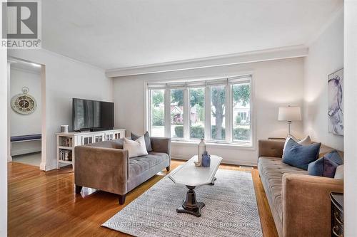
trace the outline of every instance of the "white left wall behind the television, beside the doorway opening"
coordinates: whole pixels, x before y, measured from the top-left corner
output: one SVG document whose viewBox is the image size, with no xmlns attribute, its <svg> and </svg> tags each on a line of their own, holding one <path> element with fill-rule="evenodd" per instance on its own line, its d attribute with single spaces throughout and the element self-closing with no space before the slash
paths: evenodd
<svg viewBox="0 0 357 237">
<path fill-rule="evenodd" d="M 46 65 L 46 170 L 56 167 L 55 133 L 71 125 L 72 98 L 112 100 L 104 70 L 45 50 L 14 50 L 9 56 Z"/>
</svg>

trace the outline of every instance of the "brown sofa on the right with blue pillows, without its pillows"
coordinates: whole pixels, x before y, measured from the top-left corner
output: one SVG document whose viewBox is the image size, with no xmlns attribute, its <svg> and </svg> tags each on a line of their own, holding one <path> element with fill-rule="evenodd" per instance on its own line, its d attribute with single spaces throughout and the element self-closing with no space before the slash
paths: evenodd
<svg viewBox="0 0 357 237">
<path fill-rule="evenodd" d="M 258 141 L 258 172 L 279 236 L 330 236 L 331 191 L 343 180 L 308 175 L 282 162 L 284 140 Z M 319 157 L 333 150 L 321 146 Z M 341 152 L 341 157 L 343 153 Z"/>
</svg>

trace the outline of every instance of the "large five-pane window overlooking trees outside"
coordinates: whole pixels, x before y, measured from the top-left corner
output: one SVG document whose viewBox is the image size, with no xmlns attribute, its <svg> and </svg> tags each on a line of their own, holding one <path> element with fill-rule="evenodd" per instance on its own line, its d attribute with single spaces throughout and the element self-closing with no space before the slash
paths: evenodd
<svg viewBox="0 0 357 237">
<path fill-rule="evenodd" d="M 147 88 L 151 136 L 252 145 L 251 75 Z"/>
</svg>

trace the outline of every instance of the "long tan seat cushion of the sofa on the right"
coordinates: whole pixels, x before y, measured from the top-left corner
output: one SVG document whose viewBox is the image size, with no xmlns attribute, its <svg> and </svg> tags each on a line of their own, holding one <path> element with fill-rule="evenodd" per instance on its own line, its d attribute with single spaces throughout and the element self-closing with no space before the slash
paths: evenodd
<svg viewBox="0 0 357 237">
<path fill-rule="evenodd" d="M 269 206 L 271 209 L 276 210 L 274 212 L 278 214 L 280 220 L 283 220 L 283 206 L 281 202 L 281 190 L 283 182 L 283 174 L 308 174 L 306 170 L 291 167 L 281 161 L 281 158 L 277 157 L 259 157 L 258 171 L 261 176 L 266 196 L 268 197 Z"/>
</svg>

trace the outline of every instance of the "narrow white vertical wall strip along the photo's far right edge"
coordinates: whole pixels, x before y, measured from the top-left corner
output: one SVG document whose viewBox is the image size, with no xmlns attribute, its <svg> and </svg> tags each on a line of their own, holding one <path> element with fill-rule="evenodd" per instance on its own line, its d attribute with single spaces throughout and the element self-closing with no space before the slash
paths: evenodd
<svg viewBox="0 0 357 237">
<path fill-rule="evenodd" d="M 357 1 L 345 0 L 344 236 L 357 236 Z"/>
</svg>

